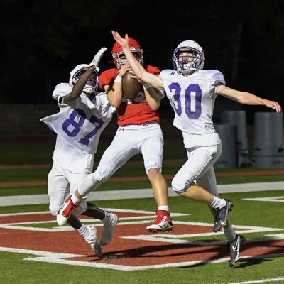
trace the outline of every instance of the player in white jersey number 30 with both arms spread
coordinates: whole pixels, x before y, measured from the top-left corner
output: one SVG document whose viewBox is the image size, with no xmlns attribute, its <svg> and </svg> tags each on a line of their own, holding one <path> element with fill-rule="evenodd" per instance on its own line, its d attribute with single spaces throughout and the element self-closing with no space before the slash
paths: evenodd
<svg viewBox="0 0 284 284">
<path fill-rule="evenodd" d="M 262 99 L 248 92 L 240 92 L 225 86 L 224 76 L 217 70 L 202 70 L 204 51 L 193 40 L 185 40 L 173 52 L 174 70 L 163 70 L 159 77 L 146 72 L 129 49 L 128 35 L 121 38 L 119 33 L 112 35 L 124 50 L 124 54 L 138 80 L 163 89 L 175 111 L 173 125 L 182 131 L 187 151 L 187 162 L 182 165 L 172 181 L 178 195 L 209 205 L 214 214 L 213 231 L 224 227 L 229 242 L 231 256 L 229 266 L 239 258 L 245 238 L 236 234 L 227 215 L 233 204 L 220 199 L 217 192 L 213 164 L 222 152 L 222 143 L 215 132 L 212 114 L 217 95 L 222 95 L 241 104 L 263 105 L 280 114 L 278 102 Z"/>
</svg>

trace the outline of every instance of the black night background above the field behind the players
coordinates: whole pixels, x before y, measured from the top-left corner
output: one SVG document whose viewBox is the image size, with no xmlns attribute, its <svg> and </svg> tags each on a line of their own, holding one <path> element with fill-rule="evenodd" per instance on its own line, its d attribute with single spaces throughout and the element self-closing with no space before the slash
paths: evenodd
<svg viewBox="0 0 284 284">
<path fill-rule="evenodd" d="M 223 72 L 229 87 L 283 106 L 283 0 L 2 0 L 0 22 L 1 104 L 53 103 L 55 85 L 102 46 L 108 51 L 99 67 L 112 67 L 114 29 L 138 40 L 144 62 L 160 70 L 172 68 L 181 41 L 196 40 L 205 51 L 204 69 Z"/>
</svg>

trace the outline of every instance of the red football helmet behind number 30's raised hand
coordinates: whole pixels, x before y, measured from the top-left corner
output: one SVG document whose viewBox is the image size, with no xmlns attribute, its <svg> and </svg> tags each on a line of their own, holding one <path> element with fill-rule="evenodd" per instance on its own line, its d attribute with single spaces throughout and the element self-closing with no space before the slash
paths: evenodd
<svg viewBox="0 0 284 284">
<path fill-rule="evenodd" d="M 129 48 L 132 51 L 132 53 L 138 54 L 136 58 L 143 65 L 143 49 L 136 40 L 130 37 L 129 37 Z M 122 65 L 120 56 L 124 55 L 124 51 L 122 50 L 119 43 L 114 43 L 114 47 L 111 49 L 111 54 L 112 57 L 114 58 L 114 64 L 116 65 L 116 68 L 120 69 Z"/>
</svg>

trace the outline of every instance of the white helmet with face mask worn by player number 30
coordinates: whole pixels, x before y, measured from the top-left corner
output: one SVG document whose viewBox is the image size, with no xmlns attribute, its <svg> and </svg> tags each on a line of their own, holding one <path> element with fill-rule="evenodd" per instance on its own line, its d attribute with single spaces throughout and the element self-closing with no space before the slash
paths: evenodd
<svg viewBox="0 0 284 284">
<path fill-rule="evenodd" d="M 179 60 L 179 55 L 182 52 L 190 52 L 193 55 L 193 60 L 190 61 L 183 58 Z M 205 55 L 202 47 L 194 40 L 185 40 L 180 43 L 173 51 L 173 68 L 179 73 L 186 74 L 191 70 L 201 70 L 204 67 Z"/>
</svg>

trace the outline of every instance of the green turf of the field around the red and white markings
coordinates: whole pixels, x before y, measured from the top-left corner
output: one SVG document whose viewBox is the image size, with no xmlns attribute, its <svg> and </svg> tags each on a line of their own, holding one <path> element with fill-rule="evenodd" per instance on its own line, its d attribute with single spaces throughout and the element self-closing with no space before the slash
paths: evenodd
<svg viewBox="0 0 284 284">
<path fill-rule="evenodd" d="M 169 148 L 177 149 L 175 158 L 173 153 L 165 154 L 163 173 L 173 175 L 185 158 L 182 144 L 170 143 Z M 1 165 L 25 165 L 25 164 L 51 164 L 53 145 L 41 143 L 37 146 L 0 145 Z M 166 143 L 166 147 L 168 147 Z M 102 153 L 104 145 L 99 153 Z M 170 152 L 170 151 L 169 151 Z M 167 151 L 165 151 L 167 153 Z M 114 176 L 129 177 L 143 176 L 143 163 L 139 163 L 136 157 L 133 161 L 137 163 L 126 164 Z M 229 169 L 231 170 L 231 169 Z M 229 170 L 217 170 L 224 172 Z M 249 167 L 234 169 L 257 170 Z M 32 169 L 0 169 L 0 182 L 23 182 L 46 180 L 49 168 Z M 284 181 L 282 175 L 251 176 L 246 178 L 218 178 L 218 184 L 242 183 L 242 182 L 273 182 Z M 170 186 L 170 180 L 168 180 Z M 149 182 L 106 182 L 98 190 L 123 190 L 135 188 L 148 188 Z M 0 187 L 0 197 L 9 198 L 11 195 L 35 195 L 46 194 L 46 186 L 27 187 Z M 277 228 L 278 231 L 249 232 L 244 234 L 250 244 L 268 235 L 282 236 L 284 239 L 284 203 L 273 201 L 250 201 L 245 198 L 261 197 L 284 197 L 282 190 L 261 192 L 235 192 L 222 194 L 224 198 L 230 198 L 234 202 L 234 209 L 230 213 L 233 224 L 241 226 L 259 226 Z M 95 201 L 102 208 L 118 208 L 133 210 L 155 211 L 153 198 L 142 198 L 133 200 L 105 200 Z M 204 222 L 212 223 L 212 216 L 207 207 L 197 202 L 185 200 L 181 197 L 170 197 L 171 212 L 187 214 L 185 216 L 173 217 L 173 222 Z M 21 205 L 0 207 L 0 214 L 42 212 L 48 211 L 48 204 Z M 121 220 L 126 222 L 127 220 Z M 33 224 L 35 228 L 52 228 L 55 223 Z M 174 233 L 174 231 L 173 231 Z M 139 232 L 143 234 L 143 231 Z M 0 228 L 0 247 L 1 238 Z M 270 238 L 272 238 L 270 236 Z M 281 237 L 280 237 L 281 238 Z M 25 231 L 22 232 L 18 242 L 25 239 Z M 224 241 L 223 235 L 213 236 L 189 236 L 180 238 L 184 241 Z M 80 246 L 80 244 L 78 244 Z M 107 247 L 106 247 L 107 249 Z M 119 249 L 119 248 L 118 248 Z M 146 256 L 147 256 L 146 252 Z M 84 266 L 70 266 L 60 263 L 47 263 L 32 261 L 33 253 L 17 253 L 0 250 L 0 283 L 284 283 L 284 246 L 278 248 L 279 256 L 263 256 L 260 258 L 244 258 L 236 263 L 236 268 L 229 268 L 227 261 L 220 263 L 202 263 L 191 266 L 180 266 L 172 268 L 154 268 L 143 271 L 118 271 L 107 268 L 92 268 Z M 31 261 L 23 260 L 29 258 Z"/>
</svg>

